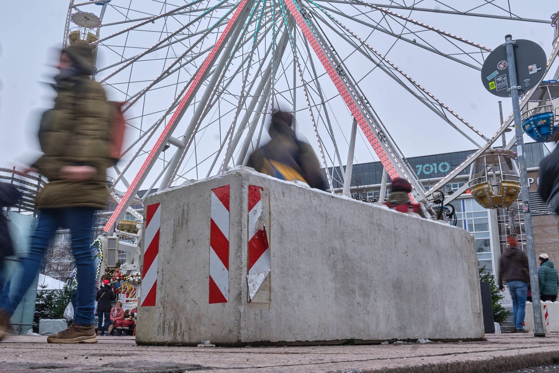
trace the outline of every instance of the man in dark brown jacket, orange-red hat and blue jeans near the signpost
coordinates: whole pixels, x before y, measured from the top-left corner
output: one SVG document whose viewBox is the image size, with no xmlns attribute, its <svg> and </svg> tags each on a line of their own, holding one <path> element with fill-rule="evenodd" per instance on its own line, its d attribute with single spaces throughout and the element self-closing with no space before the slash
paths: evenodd
<svg viewBox="0 0 559 373">
<path fill-rule="evenodd" d="M 520 249 L 518 240 L 512 236 L 506 239 L 509 247 L 505 249 L 499 262 L 499 290 L 504 291 L 503 281 L 509 285 L 510 297 L 513 299 L 513 317 L 515 333 L 526 333 L 524 322 L 526 296 L 528 294 L 528 256 Z"/>
</svg>

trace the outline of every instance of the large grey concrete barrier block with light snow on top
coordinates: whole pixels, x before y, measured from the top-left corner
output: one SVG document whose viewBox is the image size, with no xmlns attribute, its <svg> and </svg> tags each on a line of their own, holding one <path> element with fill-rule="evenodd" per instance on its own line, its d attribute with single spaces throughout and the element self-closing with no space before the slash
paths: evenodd
<svg viewBox="0 0 559 373">
<path fill-rule="evenodd" d="M 228 302 L 209 304 L 211 193 L 225 185 Z M 271 274 L 249 303 L 251 185 L 262 187 Z M 146 201 L 157 203 L 156 305 L 140 307 L 139 343 L 484 337 L 475 245 L 463 229 L 245 168 Z"/>
</svg>

